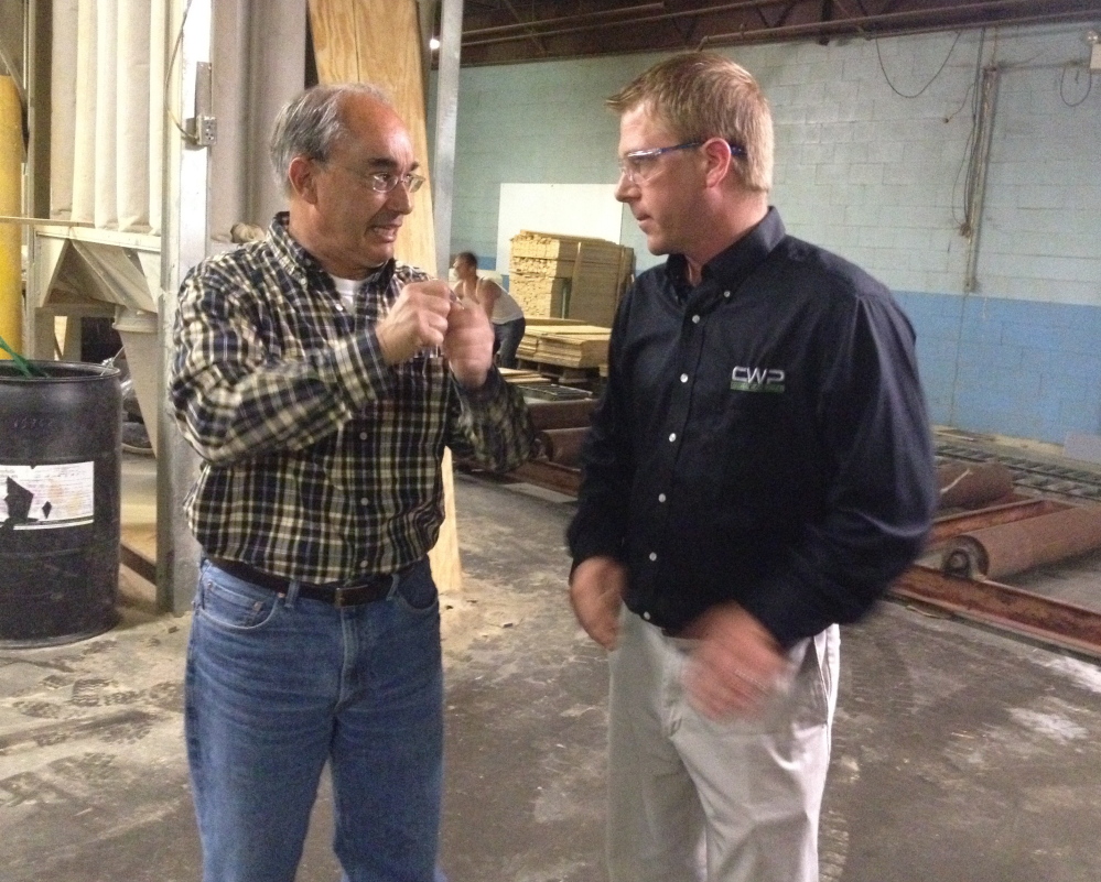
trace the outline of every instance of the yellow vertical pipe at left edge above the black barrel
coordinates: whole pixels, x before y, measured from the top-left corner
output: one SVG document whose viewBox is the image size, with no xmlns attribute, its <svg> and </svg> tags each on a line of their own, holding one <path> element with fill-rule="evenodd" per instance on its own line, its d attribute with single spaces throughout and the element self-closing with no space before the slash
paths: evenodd
<svg viewBox="0 0 1101 882">
<path fill-rule="evenodd" d="M 14 79 L 0 76 L 0 217 L 22 214 L 22 162 L 19 90 Z M 17 352 L 23 349 L 22 239 L 22 227 L 0 220 L 0 337 Z"/>
</svg>

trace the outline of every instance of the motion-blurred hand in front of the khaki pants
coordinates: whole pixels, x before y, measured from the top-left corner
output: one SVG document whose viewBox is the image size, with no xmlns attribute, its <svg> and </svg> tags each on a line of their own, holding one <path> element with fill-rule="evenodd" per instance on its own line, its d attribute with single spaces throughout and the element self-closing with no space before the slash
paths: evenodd
<svg viewBox="0 0 1101 882">
<path fill-rule="evenodd" d="M 683 632 L 695 638 L 684 672 L 689 699 L 704 716 L 753 716 L 790 676 L 775 638 L 737 603 L 712 607 Z"/>
</svg>

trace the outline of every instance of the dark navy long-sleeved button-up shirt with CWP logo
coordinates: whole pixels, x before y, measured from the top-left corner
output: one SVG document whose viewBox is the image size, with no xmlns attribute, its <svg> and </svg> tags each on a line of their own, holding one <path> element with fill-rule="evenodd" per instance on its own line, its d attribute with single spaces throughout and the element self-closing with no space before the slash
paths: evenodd
<svg viewBox="0 0 1101 882">
<path fill-rule="evenodd" d="M 647 621 L 734 600 L 785 646 L 854 621 L 937 504 L 913 328 L 769 209 L 699 285 L 681 255 L 639 275 L 582 467 L 571 554 L 625 563 Z"/>
</svg>

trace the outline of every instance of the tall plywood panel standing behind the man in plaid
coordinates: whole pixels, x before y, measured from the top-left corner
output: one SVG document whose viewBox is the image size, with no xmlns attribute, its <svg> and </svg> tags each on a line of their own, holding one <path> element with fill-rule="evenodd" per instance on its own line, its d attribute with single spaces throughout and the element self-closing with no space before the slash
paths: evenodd
<svg viewBox="0 0 1101 882">
<path fill-rule="evenodd" d="M 310 26 L 322 83 L 374 83 L 393 100 L 406 121 L 413 153 L 428 170 L 424 123 L 424 74 L 420 55 L 420 25 L 414 0 L 310 0 Z M 432 189 L 413 196 L 413 211 L 398 235 L 395 254 L 433 275 L 435 235 Z M 462 587 L 458 532 L 455 526 L 455 488 L 450 453 L 443 461 L 444 522 L 429 555 L 432 575 L 441 589 Z"/>
</svg>

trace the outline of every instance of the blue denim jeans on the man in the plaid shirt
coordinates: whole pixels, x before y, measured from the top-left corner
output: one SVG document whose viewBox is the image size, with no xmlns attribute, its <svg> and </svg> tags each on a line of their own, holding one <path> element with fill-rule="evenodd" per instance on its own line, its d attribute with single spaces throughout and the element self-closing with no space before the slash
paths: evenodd
<svg viewBox="0 0 1101 882">
<path fill-rule="evenodd" d="M 325 762 L 345 882 L 433 882 L 443 769 L 428 562 L 336 608 L 199 570 L 187 758 L 204 882 L 293 882 Z"/>
</svg>

